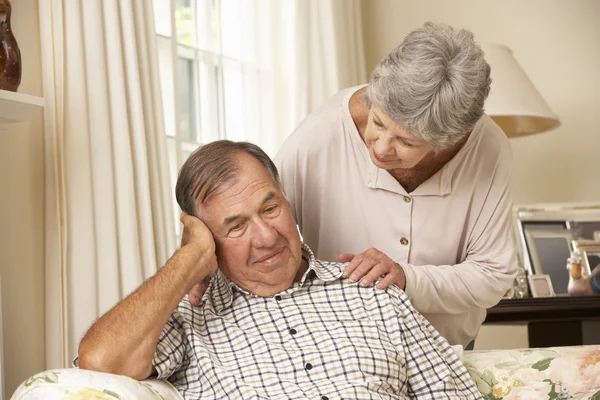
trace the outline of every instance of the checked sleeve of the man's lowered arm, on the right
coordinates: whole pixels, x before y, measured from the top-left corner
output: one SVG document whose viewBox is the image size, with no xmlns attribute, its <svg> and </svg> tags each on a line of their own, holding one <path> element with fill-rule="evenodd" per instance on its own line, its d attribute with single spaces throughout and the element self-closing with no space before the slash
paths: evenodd
<svg viewBox="0 0 600 400">
<path fill-rule="evenodd" d="M 398 314 L 411 399 L 481 399 L 467 369 L 435 328 L 414 309 L 406 294 L 388 289 Z"/>
</svg>

